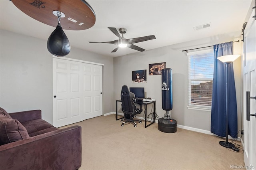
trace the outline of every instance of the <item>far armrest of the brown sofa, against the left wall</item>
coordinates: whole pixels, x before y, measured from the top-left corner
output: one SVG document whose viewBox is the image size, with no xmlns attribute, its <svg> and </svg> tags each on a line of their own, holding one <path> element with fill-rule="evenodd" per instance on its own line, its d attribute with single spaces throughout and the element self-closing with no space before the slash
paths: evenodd
<svg viewBox="0 0 256 170">
<path fill-rule="evenodd" d="M 16 113 L 9 113 L 12 119 L 17 119 L 19 122 L 32 121 L 35 119 L 42 119 L 41 110 L 23 111 Z"/>
</svg>

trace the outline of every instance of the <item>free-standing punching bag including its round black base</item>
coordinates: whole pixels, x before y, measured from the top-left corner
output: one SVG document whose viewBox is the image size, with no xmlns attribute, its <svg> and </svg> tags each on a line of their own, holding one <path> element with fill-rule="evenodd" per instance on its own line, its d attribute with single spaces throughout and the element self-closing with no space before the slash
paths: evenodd
<svg viewBox="0 0 256 170">
<path fill-rule="evenodd" d="M 164 117 L 158 119 L 158 130 L 166 133 L 177 131 L 177 121 L 172 119 L 172 69 L 162 69 L 162 108 L 166 111 Z"/>
</svg>

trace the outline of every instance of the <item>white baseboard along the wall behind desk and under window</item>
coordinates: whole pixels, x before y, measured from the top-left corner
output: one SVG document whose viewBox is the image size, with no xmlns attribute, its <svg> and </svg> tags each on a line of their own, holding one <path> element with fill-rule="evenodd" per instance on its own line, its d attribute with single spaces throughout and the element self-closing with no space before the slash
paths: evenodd
<svg viewBox="0 0 256 170">
<path fill-rule="evenodd" d="M 110 113 L 106 113 L 104 114 L 104 116 L 108 116 L 108 115 L 111 115 L 111 114 L 116 114 L 116 112 L 110 112 Z M 117 115 L 124 115 L 124 113 L 117 113 Z M 136 116 L 136 119 L 144 119 L 144 117 L 138 117 Z M 155 123 L 158 123 L 158 120 L 155 120 Z M 186 130 L 191 130 L 191 131 L 195 131 L 195 132 L 200 132 L 200 133 L 204 133 L 204 134 L 210 134 L 210 135 L 213 135 L 213 136 L 218 136 L 212 132 L 210 132 L 209 130 L 203 130 L 203 129 L 200 129 L 200 128 L 193 128 L 193 127 L 187 127 L 187 126 L 183 126 L 183 125 L 177 125 L 178 128 L 183 128 L 183 129 L 186 129 Z M 230 135 L 228 135 L 228 138 L 229 139 L 234 139 L 232 138 Z M 240 138 L 238 136 L 238 138 Z M 240 140 L 240 139 L 236 139 L 236 140 Z M 243 144 L 243 143 L 242 143 Z"/>
</svg>

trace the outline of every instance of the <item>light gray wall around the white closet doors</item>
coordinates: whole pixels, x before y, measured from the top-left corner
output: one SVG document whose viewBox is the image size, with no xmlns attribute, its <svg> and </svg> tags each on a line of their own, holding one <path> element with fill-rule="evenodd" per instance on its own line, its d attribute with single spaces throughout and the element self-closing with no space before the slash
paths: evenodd
<svg viewBox="0 0 256 170">
<path fill-rule="evenodd" d="M 52 55 L 46 40 L 0 31 L 0 107 L 7 112 L 42 110 L 53 123 Z M 114 110 L 113 58 L 71 47 L 65 57 L 104 64 L 103 113 Z"/>
</svg>

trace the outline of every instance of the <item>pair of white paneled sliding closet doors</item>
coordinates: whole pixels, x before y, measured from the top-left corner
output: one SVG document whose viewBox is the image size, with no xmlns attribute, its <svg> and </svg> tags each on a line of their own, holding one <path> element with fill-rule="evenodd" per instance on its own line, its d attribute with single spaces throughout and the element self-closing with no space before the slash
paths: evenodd
<svg viewBox="0 0 256 170">
<path fill-rule="evenodd" d="M 102 65 L 53 58 L 53 124 L 102 115 Z"/>
</svg>

